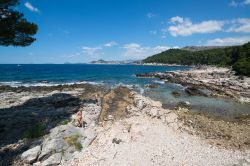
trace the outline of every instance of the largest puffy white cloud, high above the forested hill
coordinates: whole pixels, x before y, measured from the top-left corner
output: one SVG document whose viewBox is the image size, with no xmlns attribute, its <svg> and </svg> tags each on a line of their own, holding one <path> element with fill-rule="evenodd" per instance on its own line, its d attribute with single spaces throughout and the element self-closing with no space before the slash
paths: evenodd
<svg viewBox="0 0 250 166">
<path fill-rule="evenodd" d="M 195 33 L 214 33 L 217 31 L 221 31 L 224 25 L 222 21 L 216 20 L 202 21 L 200 23 L 193 24 L 190 19 L 182 18 L 179 16 L 172 17 L 170 19 L 170 23 L 174 25 L 163 29 L 163 32 L 169 32 L 174 37 L 189 36 Z"/>
</svg>

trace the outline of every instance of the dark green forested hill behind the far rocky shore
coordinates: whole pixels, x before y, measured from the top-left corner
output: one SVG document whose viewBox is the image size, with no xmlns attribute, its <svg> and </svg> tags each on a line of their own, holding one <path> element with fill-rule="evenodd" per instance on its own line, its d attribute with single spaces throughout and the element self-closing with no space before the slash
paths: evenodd
<svg viewBox="0 0 250 166">
<path fill-rule="evenodd" d="M 170 49 L 144 59 L 143 63 L 232 66 L 237 74 L 250 76 L 250 42 L 201 51 Z"/>
</svg>

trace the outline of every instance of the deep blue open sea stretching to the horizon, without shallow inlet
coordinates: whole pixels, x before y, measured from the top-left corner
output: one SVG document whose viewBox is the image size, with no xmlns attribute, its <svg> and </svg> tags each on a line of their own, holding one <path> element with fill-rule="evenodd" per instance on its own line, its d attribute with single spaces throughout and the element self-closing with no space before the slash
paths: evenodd
<svg viewBox="0 0 250 166">
<path fill-rule="evenodd" d="M 0 84 L 38 86 L 75 82 L 141 85 L 149 79 L 136 78 L 136 73 L 187 70 L 189 67 L 42 64 L 0 65 Z"/>
</svg>

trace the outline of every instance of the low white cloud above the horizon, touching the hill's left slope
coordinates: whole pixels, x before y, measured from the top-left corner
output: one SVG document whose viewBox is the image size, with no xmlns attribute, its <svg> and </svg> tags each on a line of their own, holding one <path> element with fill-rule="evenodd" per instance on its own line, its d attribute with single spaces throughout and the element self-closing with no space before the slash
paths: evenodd
<svg viewBox="0 0 250 166">
<path fill-rule="evenodd" d="M 125 49 L 124 56 L 132 59 L 142 59 L 170 49 L 169 46 L 143 47 L 137 43 L 125 44 L 123 48 Z"/>
</svg>

